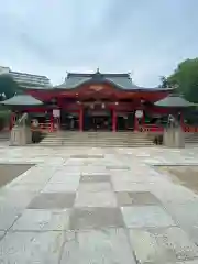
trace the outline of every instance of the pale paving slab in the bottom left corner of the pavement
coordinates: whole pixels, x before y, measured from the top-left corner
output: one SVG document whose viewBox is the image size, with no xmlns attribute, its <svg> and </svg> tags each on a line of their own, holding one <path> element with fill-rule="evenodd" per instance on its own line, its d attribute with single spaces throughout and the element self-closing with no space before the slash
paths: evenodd
<svg viewBox="0 0 198 264">
<path fill-rule="evenodd" d="M 9 232 L 0 241 L 0 263 L 58 264 L 64 241 L 63 231 Z"/>
</svg>

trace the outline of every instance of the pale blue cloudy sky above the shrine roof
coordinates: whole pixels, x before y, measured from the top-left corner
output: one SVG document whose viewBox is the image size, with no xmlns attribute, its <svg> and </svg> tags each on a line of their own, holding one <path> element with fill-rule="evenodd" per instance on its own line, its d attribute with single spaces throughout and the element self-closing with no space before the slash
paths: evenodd
<svg viewBox="0 0 198 264">
<path fill-rule="evenodd" d="M 197 0 L 0 0 L 0 65 L 46 75 L 131 73 L 154 87 L 198 57 Z"/>
</svg>

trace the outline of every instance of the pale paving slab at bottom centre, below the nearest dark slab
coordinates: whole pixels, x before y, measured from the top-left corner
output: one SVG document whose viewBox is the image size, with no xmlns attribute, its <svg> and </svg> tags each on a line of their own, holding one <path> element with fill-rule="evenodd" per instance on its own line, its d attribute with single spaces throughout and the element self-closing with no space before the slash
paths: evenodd
<svg viewBox="0 0 198 264">
<path fill-rule="evenodd" d="M 61 263 L 135 264 L 123 229 L 78 231 L 66 241 Z"/>
</svg>

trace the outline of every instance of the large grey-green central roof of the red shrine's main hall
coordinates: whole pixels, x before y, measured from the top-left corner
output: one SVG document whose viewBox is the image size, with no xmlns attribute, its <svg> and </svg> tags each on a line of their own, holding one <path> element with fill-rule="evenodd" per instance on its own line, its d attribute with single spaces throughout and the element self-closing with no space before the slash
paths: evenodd
<svg viewBox="0 0 198 264">
<path fill-rule="evenodd" d="M 67 77 L 65 78 L 65 81 L 54 87 L 55 89 L 75 89 L 78 88 L 81 85 L 85 84 L 111 84 L 116 86 L 118 89 L 122 90 L 167 90 L 164 88 L 145 88 L 145 87 L 139 87 L 133 84 L 132 78 L 130 74 L 101 74 L 100 72 L 97 72 L 95 74 L 75 74 L 75 73 L 68 73 Z M 169 89 L 172 90 L 172 89 Z"/>
</svg>

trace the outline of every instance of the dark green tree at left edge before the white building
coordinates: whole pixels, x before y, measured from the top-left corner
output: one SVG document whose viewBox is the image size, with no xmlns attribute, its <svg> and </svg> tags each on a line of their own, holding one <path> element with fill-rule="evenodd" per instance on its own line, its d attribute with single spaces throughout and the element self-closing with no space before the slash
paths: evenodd
<svg viewBox="0 0 198 264">
<path fill-rule="evenodd" d="M 12 76 L 8 74 L 0 75 L 0 101 L 13 97 L 20 91 L 20 87 Z"/>
</svg>

